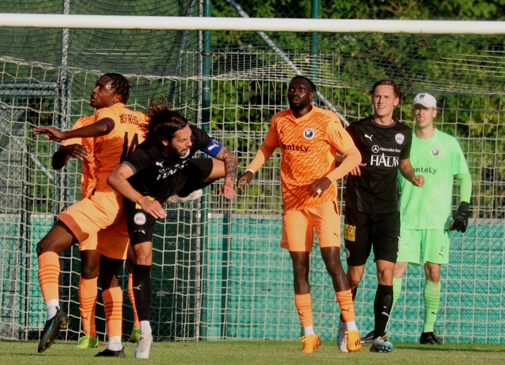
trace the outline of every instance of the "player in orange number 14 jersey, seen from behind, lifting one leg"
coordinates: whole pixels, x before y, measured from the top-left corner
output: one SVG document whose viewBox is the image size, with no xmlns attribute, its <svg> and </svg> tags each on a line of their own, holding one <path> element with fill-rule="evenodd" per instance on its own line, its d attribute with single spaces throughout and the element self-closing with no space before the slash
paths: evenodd
<svg viewBox="0 0 505 365">
<path fill-rule="evenodd" d="M 59 308 L 58 255 L 74 243 L 83 243 L 97 234 L 100 257 L 100 283 L 106 312 L 109 343 L 97 356 L 124 357 L 121 345 L 122 290 L 116 268 L 126 258 L 128 233 L 123 200 L 107 185 L 107 177 L 123 158 L 142 142 L 138 127 L 145 116 L 125 108 L 130 89 L 129 81 L 117 73 L 108 73 L 96 81 L 90 105 L 96 108 L 94 122 L 79 129 L 61 132 L 55 128 L 37 127 L 34 134 L 56 142 L 69 138 L 93 138 L 95 184 L 92 195 L 65 209 L 58 221 L 37 245 L 39 282 L 47 307 L 47 321 L 39 342 L 43 352 L 54 343 L 60 329 L 67 327 L 68 316 Z M 109 227 L 113 234 L 102 235 Z"/>
</svg>

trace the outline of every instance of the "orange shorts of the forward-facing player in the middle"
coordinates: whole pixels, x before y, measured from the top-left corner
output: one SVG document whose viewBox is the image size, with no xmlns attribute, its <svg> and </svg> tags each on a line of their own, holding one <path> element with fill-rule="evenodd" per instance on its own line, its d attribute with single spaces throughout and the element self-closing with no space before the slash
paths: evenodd
<svg viewBox="0 0 505 365">
<path fill-rule="evenodd" d="M 335 201 L 285 211 L 282 214 L 281 247 L 289 251 L 311 252 L 314 243 L 312 227 L 316 229 L 319 247 L 340 247 L 340 217 Z"/>
</svg>

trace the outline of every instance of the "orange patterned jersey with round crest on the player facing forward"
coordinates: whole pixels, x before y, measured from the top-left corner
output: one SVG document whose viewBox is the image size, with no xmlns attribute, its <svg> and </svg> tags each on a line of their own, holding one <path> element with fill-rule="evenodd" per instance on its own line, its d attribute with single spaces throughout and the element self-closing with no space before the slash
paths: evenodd
<svg viewBox="0 0 505 365">
<path fill-rule="evenodd" d="M 335 179 L 330 178 L 333 184 L 317 199 L 310 198 L 307 194 L 312 184 L 308 180 L 329 177 L 328 174 L 335 170 L 336 150 L 345 154 L 351 148 L 356 149 L 338 116 L 316 107 L 298 119 L 293 116 L 291 109 L 274 115 L 265 145 L 269 152 L 273 152 L 277 146 L 281 147 L 284 210 L 307 209 L 335 200 Z M 268 157 L 270 156 L 264 156 L 259 151 L 247 169 L 256 172 Z M 353 166 L 356 166 L 360 161 L 354 162 Z M 340 178 L 345 173 L 346 171 L 335 174 L 335 178 Z"/>
</svg>

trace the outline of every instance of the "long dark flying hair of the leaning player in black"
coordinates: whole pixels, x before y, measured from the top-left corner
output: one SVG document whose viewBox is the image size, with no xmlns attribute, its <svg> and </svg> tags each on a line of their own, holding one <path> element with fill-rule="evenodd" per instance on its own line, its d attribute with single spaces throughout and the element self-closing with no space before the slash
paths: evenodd
<svg viewBox="0 0 505 365">
<path fill-rule="evenodd" d="M 158 103 L 149 102 L 144 114 L 149 117 L 147 124 L 140 128 L 144 132 L 144 138 L 152 142 L 171 142 L 174 133 L 188 125 L 186 118 L 174 110 L 170 110 L 164 97 L 158 98 Z"/>
</svg>

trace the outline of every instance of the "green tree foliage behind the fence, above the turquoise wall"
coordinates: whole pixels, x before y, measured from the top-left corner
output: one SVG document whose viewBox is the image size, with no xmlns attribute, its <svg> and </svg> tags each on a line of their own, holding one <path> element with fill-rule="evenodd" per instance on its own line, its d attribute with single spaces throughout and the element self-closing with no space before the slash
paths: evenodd
<svg viewBox="0 0 505 365">
<path fill-rule="evenodd" d="M 311 0 L 237 3 L 250 17 L 311 17 Z M 226 0 L 213 2 L 212 15 L 238 16 Z M 505 1 L 322 0 L 320 18 L 504 20 Z M 310 75 L 309 33 L 267 34 L 302 72 Z M 212 47 L 214 65 L 221 65 L 213 68 L 214 76 L 238 71 L 249 71 L 250 75 L 248 81 L 214 81 L 213 129 L 236 128 L 241 131 L 239 135 L 266 132 L 269 118 L 287 107 L 282 98 L 286 89 L 281 82 L 255 79 L 253 70 L 259 64 L 274 68 L 278 80 L 284 82 L 294 72 L 279 58 L 272 62 L 267 56 L 272 50 L 256 32 L 213 32 Z M 403 93 L 396 114 L 407 123 L 412 121 L 412 97 L 423 91 L 435 95 L 442 110 L 437 126 L 459 139 L 470 165 L 474 193 L 480 197 L 475 204 L 486 207 L 482 211 L 488 210 L 482 217 L 491 217 L 503 214 L 505 196 L 505 169 L 500 167 L 505 162 L 503 144 L 497 142 L 505 135 L 504 64 L 503 36 L 321 33 L 315 81 L 349 121 L 372 112 L 369 90 L 381 78 L 393 78 L 400 84 Z M 236 144 L 240 152 L 259 147 L 247 138 L 238 139 Z M 274 167 L 274 162 L 268 166 Z"/>
</svg>

